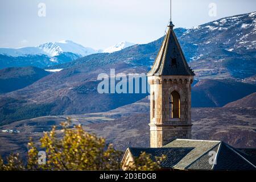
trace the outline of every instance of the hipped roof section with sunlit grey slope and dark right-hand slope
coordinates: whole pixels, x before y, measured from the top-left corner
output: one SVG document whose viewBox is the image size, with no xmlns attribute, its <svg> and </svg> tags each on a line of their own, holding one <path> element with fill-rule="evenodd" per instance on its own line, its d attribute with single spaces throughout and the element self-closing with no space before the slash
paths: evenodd
<svg viewBox="0 0 256 182">
<path fill-rule="evenodd" d="M 195 147 L 173 168 L 204 170 L 255 170 L 253 157 L 229 146 L 225 142 L 213 140 L 176 139 L 163 147 Z M 216 164 L 209 163 L 210 151 L 216 152 Z"/>
</svg>

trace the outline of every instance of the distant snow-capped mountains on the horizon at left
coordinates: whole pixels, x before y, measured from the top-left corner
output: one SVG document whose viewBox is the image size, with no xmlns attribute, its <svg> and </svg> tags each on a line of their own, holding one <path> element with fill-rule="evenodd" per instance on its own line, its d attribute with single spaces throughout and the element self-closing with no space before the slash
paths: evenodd
<svg viewBox="0 0 256 182">
<path fill-rule="evenodd" d="M 36 47 L 0 48 L 0 68 L 34 66 L 39 68 L 67 63 L 79 57 L 101 52 L 115 52 L 133 46 L 120 42 L 104 50 L 81 46 L 71 40 L 48 42 Z"/>
</svg>

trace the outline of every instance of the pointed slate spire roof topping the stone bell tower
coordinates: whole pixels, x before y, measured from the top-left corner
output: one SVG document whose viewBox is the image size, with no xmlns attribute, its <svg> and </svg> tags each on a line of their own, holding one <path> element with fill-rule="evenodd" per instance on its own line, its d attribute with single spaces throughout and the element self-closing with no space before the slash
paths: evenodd
<svg viewBox="0 0 256 182">
<path fill-rule="evenodd" d="M 147 76 L 153 75 L 185 75 L 195 76 L 192 69 L 188 67 L 180 44 L 173 30 L 174 25 L 170 22 L 168 31 L 164 37 L 162 46 L 156 56 L 155 63 Z"/>
</svg>

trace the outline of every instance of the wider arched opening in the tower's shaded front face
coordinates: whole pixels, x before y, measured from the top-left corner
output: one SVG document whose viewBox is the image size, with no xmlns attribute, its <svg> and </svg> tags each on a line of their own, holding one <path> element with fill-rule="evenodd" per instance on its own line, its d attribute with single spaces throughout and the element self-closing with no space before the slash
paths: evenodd
<svg viewBox="0 0 256 182">
<path fill-rule="evenodd" d="M 180 118 L 180 94 L 173 91 L 169 97 L 170 118 Z"/>
</svg>

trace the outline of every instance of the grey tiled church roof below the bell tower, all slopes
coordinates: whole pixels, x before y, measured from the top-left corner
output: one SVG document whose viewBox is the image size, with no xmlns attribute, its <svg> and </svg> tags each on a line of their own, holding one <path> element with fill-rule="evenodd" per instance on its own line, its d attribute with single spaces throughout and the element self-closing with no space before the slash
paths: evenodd
<svg viewBox="0 0 256 182">
<path fill-rule="evenodd" d="M 255 150 L 237 149 L 214 140 L 175 139 L 162 148 L 129 148 L 135 157 L 141 152 L 154 156 L 166 155 L 163 168 L 187 170 L 256 170 Z M 216 163 L 210 152 L 216 152 Z M 250 155 L 248 155 L 250 154 Z"/>
</svg>

